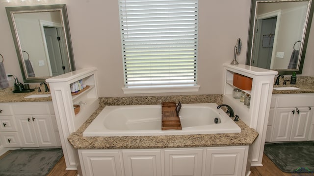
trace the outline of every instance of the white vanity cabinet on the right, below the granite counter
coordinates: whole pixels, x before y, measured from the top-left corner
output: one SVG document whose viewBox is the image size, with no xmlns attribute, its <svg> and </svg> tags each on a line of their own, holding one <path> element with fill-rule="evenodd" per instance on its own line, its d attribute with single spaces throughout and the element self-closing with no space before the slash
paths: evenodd
<svg viewBox="0 0 314 176">
<path fill-rule="evenodd" d="M 309 140 L 314 94 L 278 94 L 273 99 L 266 142 Z"/>
</svg>

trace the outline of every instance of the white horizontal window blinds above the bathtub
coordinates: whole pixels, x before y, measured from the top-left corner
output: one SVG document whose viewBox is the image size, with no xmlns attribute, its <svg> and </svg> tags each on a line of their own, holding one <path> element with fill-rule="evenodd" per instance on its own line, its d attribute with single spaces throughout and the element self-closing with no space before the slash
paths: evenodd
<svg viewBox="0 0 314 176">
<path fill-rule="evenodd" d="M 195 86 L 198 0 L 119 0 L 126 88 Z"/>
</svg>

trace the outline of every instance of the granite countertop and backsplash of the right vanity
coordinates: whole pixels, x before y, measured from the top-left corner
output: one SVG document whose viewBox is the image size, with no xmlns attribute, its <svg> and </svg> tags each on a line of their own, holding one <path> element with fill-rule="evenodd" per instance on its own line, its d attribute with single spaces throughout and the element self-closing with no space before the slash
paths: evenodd
<svg viewBox="0 0 314 176">
<path fill-rule="evenodd" d="M 277 77 L 275 77 L 275 80 L 276 80 L 276 78 Z M 291 79 L 290 76 L 287 76 L 284 79 L 280 78 L 279 85 L 274 85 L 274 88 L 295 87 L 295 88 L 301 88 L 301 89 L 298 89 L 298 90 L 276 90 L 276 89 L 273 89 L 273 94 L 314 93 L 314 77 L 299 76 L 296 79 L 295 85 L 290 85 L 290 81 L 287 81 L 287 85 L 283 85 L 284 80 L 290 80 L 290 79 Z"/>
</svg>

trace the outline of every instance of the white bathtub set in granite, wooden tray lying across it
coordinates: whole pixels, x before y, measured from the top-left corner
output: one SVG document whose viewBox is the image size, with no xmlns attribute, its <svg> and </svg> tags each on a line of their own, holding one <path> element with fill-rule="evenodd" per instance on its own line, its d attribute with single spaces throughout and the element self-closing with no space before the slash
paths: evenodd
<svg viewBox="0 0 314 176">
<path fill-rule="evenodd" d="M 83 136 L 144 136 L 241 132 L 239 126 L 216 103 L 183 104 L 182 130 L 161 130 L 161 105 L 106 106 L 83 132 Z M 215 124 L 214 118 L 221 123 Z"/>
</svg>

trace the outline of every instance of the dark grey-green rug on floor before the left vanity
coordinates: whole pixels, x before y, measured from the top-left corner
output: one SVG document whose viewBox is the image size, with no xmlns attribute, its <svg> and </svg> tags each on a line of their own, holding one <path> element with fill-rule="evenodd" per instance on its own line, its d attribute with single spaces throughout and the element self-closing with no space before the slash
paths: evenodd
<svg viewBox="0 0 314 176">
<path fill-rule="evenodd" d="M 0 159 L 0 176 L 46 176 L 63 156 L 62 149 L 19 149 Z"/>
</svg>

